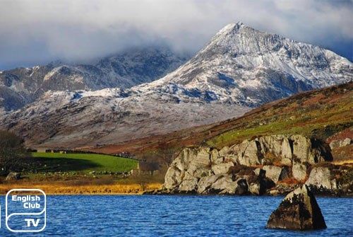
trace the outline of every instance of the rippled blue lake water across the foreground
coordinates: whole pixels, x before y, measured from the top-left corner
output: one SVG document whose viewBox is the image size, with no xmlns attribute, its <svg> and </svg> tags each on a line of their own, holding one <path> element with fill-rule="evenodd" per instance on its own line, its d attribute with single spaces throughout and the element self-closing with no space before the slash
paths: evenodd
<svg viewBox="0 0 353 237">
<path fill-rule="evenodd" d="M 318 197 L 328 229 L 265 229 L 283 197 L 47 196 L 47 228 L 0 236 L 353 236 L 353 199 Z"/>
</svg>

